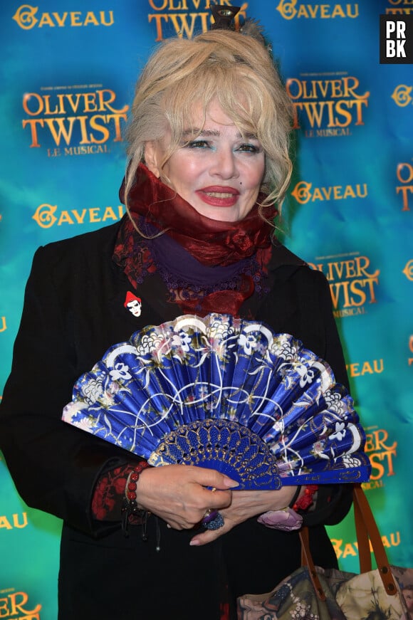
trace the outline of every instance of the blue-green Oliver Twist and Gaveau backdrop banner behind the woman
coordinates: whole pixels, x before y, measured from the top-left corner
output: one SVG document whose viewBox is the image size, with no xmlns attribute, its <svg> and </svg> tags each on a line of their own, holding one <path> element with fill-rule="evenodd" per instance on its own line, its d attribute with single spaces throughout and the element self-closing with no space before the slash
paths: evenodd
<svg viewBox="0 0 413 620">
<path fill-rule="evenodd" d="M 209 28 L 209 4 L 1 6 L 0 393 L 34 251 L 122 217 L 137 76 L 162 39 Z M 225 4 L 261 21 L 293 102 L 282 240 L 328 278 L 367 429 L 364 487 L 391 562 L 413 567 L 413 65 L 401 29 L 380 41 L 380 16 L 413 19 L 413 0 Z M 0 618 L 56 620 L 61 522 L 23 503 L 1 454 L 0 485 Z M 357 570 L 351 515 L 329 534 L 340 567 Z"/>
</svg>

